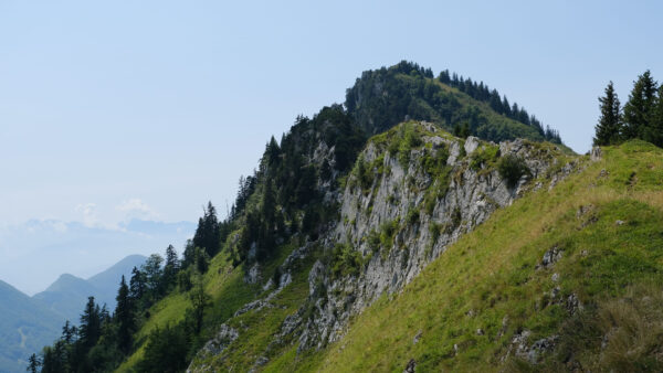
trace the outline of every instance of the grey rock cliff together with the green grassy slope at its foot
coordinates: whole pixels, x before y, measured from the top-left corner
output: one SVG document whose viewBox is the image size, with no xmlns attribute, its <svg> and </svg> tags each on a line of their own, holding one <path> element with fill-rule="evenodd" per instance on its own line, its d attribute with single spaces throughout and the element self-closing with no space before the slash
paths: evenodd
<svg viewBox="0 0 663 373">
<path fill-rule="evenodd" d="M 227 319 L 190 369 L 259 369 L 273 360 L 281 366 L 280 359 L 299 361 L 343 340 L 352 316 L 398 292 L 496 209 L 550 183 L 569 168 L 566 159 L 551 145 L 463 141 L 425 122 L 373 137 L 337 195 L 339 220 L 318 239 L 299 242 L 278 266 L 281 278 L 302 278 L 294 263 L 315 262 L 305 269 L 308 294 L 294 290 L 301 283 L 264 276 L 271 290 Z M 518 172 L 504 178 L 498 168 L 509 162 Z M 291 300 L 287 309 L 301 306 L 288 315 L 283 299 Z"/>
</svg>

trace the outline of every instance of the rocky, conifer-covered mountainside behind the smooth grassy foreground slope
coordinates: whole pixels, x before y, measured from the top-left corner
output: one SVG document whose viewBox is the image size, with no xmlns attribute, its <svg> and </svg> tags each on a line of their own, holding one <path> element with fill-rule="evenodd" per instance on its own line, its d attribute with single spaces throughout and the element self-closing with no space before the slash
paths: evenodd
<svg viewBox="0 0 663 373">
<path fill-rule="evenodd" d="M 308 366 L 316 360 L 305 356 L 341 341 L 365 309 L 495 211 L 578 166 L 564 146 L 539 141 L 538 121 L 498 114 L 414 64 L 371 74 L 345 107 L 299 116 L 272 138 L 229 216 L 219 222 L 208 204 L 181 262 L 167 253 L 165 266 L 131 278 L 124 316 L 91 309 L 106 327 L 45 356 L 122 372 L 260 370 L 294 358 Z M 389 87 L 371 96 L 376 82 Z M 430 92 L 452 106 L 422 114 Z M 386 107 L 402 110 L 381 116 Z M 59 361 L 57 349 L 84 353 Z"/>
</svg>

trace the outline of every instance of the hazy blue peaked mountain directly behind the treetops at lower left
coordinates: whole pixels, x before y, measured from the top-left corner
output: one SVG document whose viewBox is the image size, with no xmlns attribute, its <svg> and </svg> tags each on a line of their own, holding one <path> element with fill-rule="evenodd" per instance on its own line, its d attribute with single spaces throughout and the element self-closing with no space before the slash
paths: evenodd
<svg viewBox="0 0 663 373">
<path fill-rule="evenodd" d="M 96 302 L 105 303 L 107 309 L 113 311 L 122 276 L 124 275 L 128 283 L 131 269 L 139 268 L 146 259 L 143 255 L 129 255 L 86 280 L 69 274 L 61 275 L 55 283 L 44 291 L 35 294 L 33 298 L 77 324 L 87 297 L 94 297 Z"/>
</svg>

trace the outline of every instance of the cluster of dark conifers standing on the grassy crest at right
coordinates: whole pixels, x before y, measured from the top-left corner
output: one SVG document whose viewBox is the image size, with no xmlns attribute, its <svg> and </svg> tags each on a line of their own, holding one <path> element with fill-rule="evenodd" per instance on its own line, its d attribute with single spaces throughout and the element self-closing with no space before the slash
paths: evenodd
<svg viewBox="0 0 663 373">
<path fill-rule="evenodd" d="M 641 139 L 663 147 L 663 85 L 654 81 L 649 70 L 633 82 L 623 108 L 612 82 L 599 97 L 599 107 L 601 114 L 594 127 L 594 146 Z"/>
</svg>

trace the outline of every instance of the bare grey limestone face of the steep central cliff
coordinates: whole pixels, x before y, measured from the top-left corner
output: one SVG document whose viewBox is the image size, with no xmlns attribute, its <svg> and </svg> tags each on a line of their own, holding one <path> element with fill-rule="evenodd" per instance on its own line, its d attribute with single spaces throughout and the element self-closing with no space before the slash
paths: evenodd
<svg viewBox="0 0 663 373">
<path fill-rule="evenodd" d="M 430 124 L 421 126 L 427 131 L 435 131 Z M 309 274 L 308 300 L 316 313 L 303 321 L 299 350 L 322 348 L 340 339 L 352 315 L 361 312 L 383 292 L 399 291 L 450 244 L 484 222 L 496 209 L 509 205 L 529 188 L 530 180 L 544 175 L 556 162 L 551 153 L 532 142 L 518 139 L 499 143 L 502 157 L 522 158 L 530 173 L 509 188 L 495 168 L 470 167 L 474 152 L 495 145 L 474 137 L 461 143 L 443 135 L 425 137 L 424 142 L 430 146 L 411 150 L 406 164 L 397 154 L 372 142 L 362 152 L 369 164 L 382 160 L 379 166 L 383 172 L 377 174 L 369 189 L 352 183 L 350 175 L 339 200 L 340 221 L 329 237 L 361 253 L 366 264 L 358 275 L 338 277 L 316 263 Z M 452 177 L 446 193 L 425 206 L 428 191 L 438 185 L 436 175 L 429 174 L 423 164 L 427 157 L 442 149 L 448 150 L 446 163 Z M 566 174 L 571 170 L 571 166 L 562 167 Z M 559 180 L 561 177 L 556 182 Z M 368 237 L 392 222 L 397 226 L 393 239 L 386 245 L 380 243 L 377 249 L 375 243 L 371 247 Z M 315 284 L 326 291 L 314 294 Z"/>
</svg>

